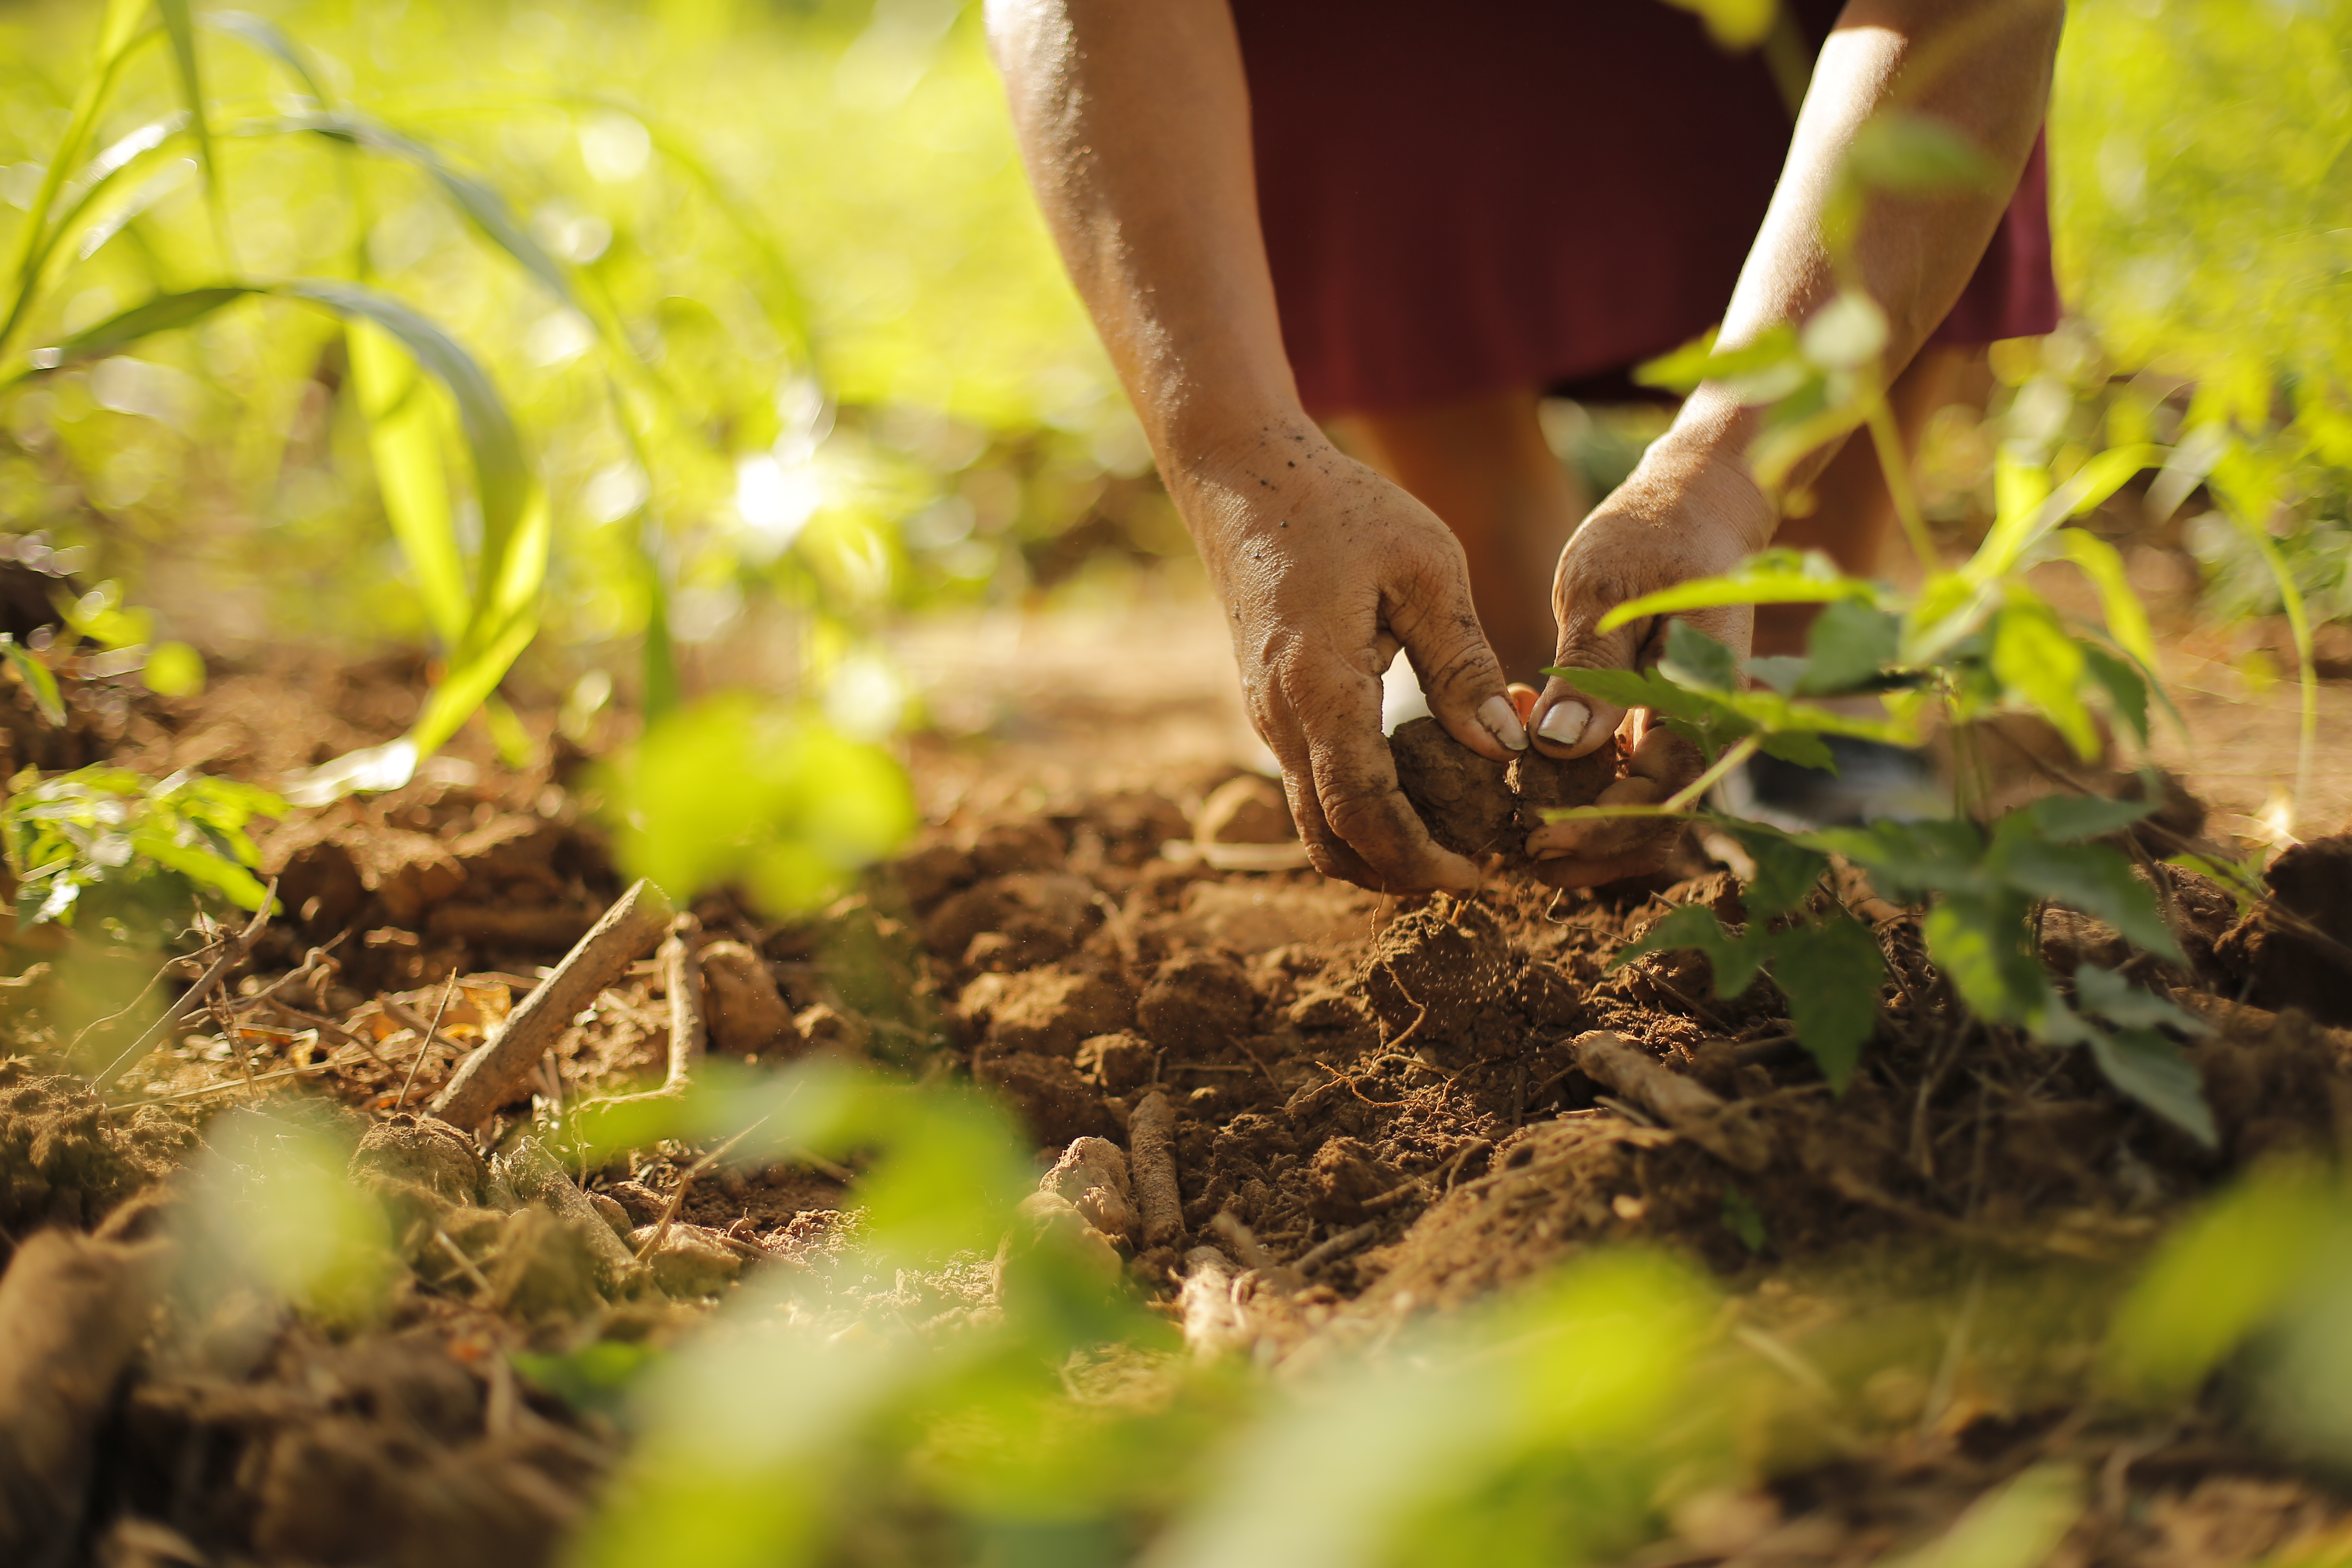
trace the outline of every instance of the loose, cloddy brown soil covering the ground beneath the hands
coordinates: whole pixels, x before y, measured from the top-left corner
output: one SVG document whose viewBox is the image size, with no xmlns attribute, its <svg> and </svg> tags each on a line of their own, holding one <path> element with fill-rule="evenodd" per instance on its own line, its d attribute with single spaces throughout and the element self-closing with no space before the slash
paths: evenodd
<svg viewBox="0 0 2352 1568">
<path fill-rule="evenodd" d="M 400 722 L 390 684 L 318 677 L 285 686 L 285 710 L 320 715 L 318 733 L 341 750 Z M 268 773 L 289 745 L 259 719 L 263 686 L 230 679 L 183 705 L 122 698 L 115 719 L 75 733 L 141 766 L 202 755 Z M 1414 726 L 1395 750 L 1437 835 L 1505 860 L 1531 811 L 1606 783 L 1602 764 L 1538 778 Z M 746 1272 L 844 1244 L 854 1187 L 837 1171 L 779 1164 L 689 1182 L 699 1150 L 666 1143 L 588 1175 L 614 1234 L 644 1246 L 670 1225 L 649 1281 L 614 1291 L 597 1274 L 609 1237 L 593 1246 L 517 1201 L 503 1161 L 414 1114 L 619 893 L 597 832 L 553 776 L 562 762 L 532 776 L 445 769 L 285 823 L 266 853 L 289 919 L 235 983 L 247 997 L 280 990 L 228 1032 L 193 1018 L 111 1107 L 71 1079 L 0 1070 L 9 1239 L 127 1213 L 125 1199 L 195 1147 L 207 1110 L 294 1074 L 365 1131 L 353 1173 L 383 1206 L 400 1260 L 390 1316 L 341 1338 L 240 1321 L 235 1302 L 172 1324 L 101 1434 L 89 1554 L 546 1561 L 623 1439 L 590 1399 L 517 1378 L 508 1354 L 663 1342 Z M 934 783 L 955 790 L 931 795 L 934 825 L 823 914 L 764 922 L 727 896 L 694 905 L 713 1044 L 753 1067 L 826 1051 L 990 1086 L 1028 1124 L 1049 1187 L 1127 1248 L 1138 1291 L 1171 1302 L 1178 1260 L 1232 1246 L 1232 1225 L 1275 1265 L 1345 1244 L 1317 1255 L 1305 1288 L 1256 1298 L 1247 1333 L 1265 1359 L 1312 1361 L 1599 1241 L 1693 1255 L 1790 1342 L 1830 1342 L 1837 1314 L 1806 1316 L 1790 1281 L 1835 1260 L 1938 1244 L 2112 1279 L 2218 1178 L 2272 1152 L 2336 1152 L 2343 1135 L 2352 1034 L 2326 1027 L 2343 1020 L 2345 969 L 2331 957 L 2347 936 L 2343 842 L 2279 863 L 2277 903 L 2296 919 L 2239 922 L 2213 884 L 2159 872 L 2197 971 L 2159 978 L 2218 1025 L 2192 1048 L 2223 1128 L 2209 1154 L 2079 1053 L 1955 1016 L 1907 912 L 1875 924 L 1896 978 L 1863 1070 L 1835 1095 L 1790 1041 L 1769 983 L 1719 1001 L 1691 954 L 1611 964 L 1672 905 L 1736 914 L 1729 872 L 1663 893 L 1555 896 L 1501 877 L 1472 900 L 1390 900 L 1310 872 L 1218 872 L 1162 853 L 1192 837 L 1235 776 L 1228 764 L 1162 766 L 1148 785 L 1033 773 L 981 788 L 955 757 L 938 762 Z M 2077 961 L 2119 943 L 2096 922 L 2044 936 L 2072 943 Z M 56 1063 L 47 985 L 12 992 L 7 1027 L 16 1051 Z M 654 1086 L 666 1030 L 659 971 L 637 964 L 560 1037 L 494 1135 Z M 1726 1164 L 1658 1126 L 1656 1107 L 1585 1077 L 1576 1039 L 1590 1030 L 1700 1084 L 1762 1157 Z M 1174 1107 L 1185 1234 L 1134 1251 L 1124 1168 L 1073 1140 L 1124 1143 L 1150 1093 Z M 908 1321 L 985 1305 L 985 1281 L 946 1274 L 894 1291 Z M 2034 1460 L 2112 1467 L 2126 1448 L 2136 1458 L 2114 1469 L 2122 1502 L 2103 1526 L 2114 1561 L 2251 1561 L 2343 1514 L 2225 1429 L 2154 1441 L 2091 1429 L 2027 1389 L 1985 1394 L 1933 1443 L 1889 1439 L 1823 1460 L 1733 1523 L 1677 1519 L 1689 1552 L 1656 1561 L 1863 1561 Z"/>
</svg>

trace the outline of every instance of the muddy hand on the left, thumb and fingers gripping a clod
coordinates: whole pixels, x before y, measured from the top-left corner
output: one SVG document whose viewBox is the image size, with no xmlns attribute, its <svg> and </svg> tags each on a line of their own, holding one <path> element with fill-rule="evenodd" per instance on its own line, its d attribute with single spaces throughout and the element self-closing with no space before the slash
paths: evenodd
<svg viewBox="0 0 2352 1568">
<path fill-rule="evenodd" d="M 1402 649 L 1446 733 L 1496 762 L 1526 750 L 1463 550 L 1435 512 L 1305 430 L 1178 477 L 1249 722 L 1282 762 L 1315 870 L 1390 893 L 1470 891 L 1477 867 L 1430 839 L 1381 733 L 1381 672 Z"/>
</svg>

